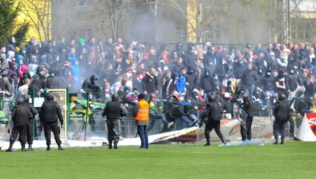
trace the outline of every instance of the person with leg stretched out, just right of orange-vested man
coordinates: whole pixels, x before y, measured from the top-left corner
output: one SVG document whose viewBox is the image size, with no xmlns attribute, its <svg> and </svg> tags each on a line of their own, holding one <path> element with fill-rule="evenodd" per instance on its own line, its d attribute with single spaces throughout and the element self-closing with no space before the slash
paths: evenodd
<svg viewBox="0 0 316 179">
<path fill-rule="evenodd" d="M 153 95 L 152 101 L 149 104 L 150 125 L 147 130 L 151 131 L 154 128 L 157 119 L 161 119 L 163 124 L 169 129 L 171 126 L 173 126 L 174 122 L 169 123 L 166 120 L 166 118 L 163 116 L 163 114 L 159 114 L 157 108 L 155 107 L 155 99 L 156 99 L 156 95 Z M 156 101 L 159 102 L 159 99 Z M 162 109 L 162 107 L 159 107 L 159 109 Z"/>
</svg>

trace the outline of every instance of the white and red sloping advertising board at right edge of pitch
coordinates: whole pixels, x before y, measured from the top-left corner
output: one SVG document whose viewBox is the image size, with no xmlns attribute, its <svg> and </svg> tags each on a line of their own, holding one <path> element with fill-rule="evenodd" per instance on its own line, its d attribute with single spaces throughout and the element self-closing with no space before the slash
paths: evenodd
<svg viewBox="0 0 316 179">
<path fill-rule="evenodd" d="M 316 141 L 316 113 L 305 113 L 296 138 L 302 141 Z"/>
</svg>

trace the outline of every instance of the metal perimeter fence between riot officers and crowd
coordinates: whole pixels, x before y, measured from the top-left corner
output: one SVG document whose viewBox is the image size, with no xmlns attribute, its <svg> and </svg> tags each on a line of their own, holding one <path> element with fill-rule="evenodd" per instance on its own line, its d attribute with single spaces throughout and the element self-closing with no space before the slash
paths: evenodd
<svg viewBox="0 0 316 179">
<path fill-rule="evenodd" d="M 48 91 L 52 91 L 55 96 L 55 100 L 58 101 L 62 110 L 64 111 L 64 130 L 61 132 L 61 139 L 64 140 L 105 140 L 107 139 L 107 126 L 106 119 L 101 116 L 103 109 L 106 106 L 106 102 L 109 101 L 109 96 L 101 95 L 98 93 L 92 93 L 90 91 L 83 92 L 71 92 L 66 89 L 49 89 L 44 91 L 30 91 L 32 94 L 32 103 L 34 106 L 39 109 L 41 102 L 45 100 L 43 98 L 44 94 Z M 101 96 L 101 99 L 100 99 Z M 136 98 L 135 98 L 136 99 Z M 123 98 L 121 99 L 123 104 L 128 104 L 127 110 L 128 114 L 121 119 L 121 137 L 122 138 L 134 138 L 137 137 L 137 129 L 135 126 L 135 121 L 132 115 L 132 108 L 134 106 L 134 100 Z M 14 106 L 13 101 L 2 101 L 0 102 L 1 106 L 3 103 L 9 103 L 10 109 Z M 193 107 L 195 104 L 188 103 L 188 106 L 177 106 L 181 108 L 181 110 L 185 113 L 180 114 L 175 110 L 175 106 L 170 104 L 169 101 L 163 99 L 155 99 L 154 105 L 158 109 L 159 114 L 162 114 L 168 123 L 174 122 L 173 126 L 170 128 L 167 127 L 165 123 L 159 118 L 150 117 L 149 121 L 149 134 L 161 134 L 165 132 L 182 130 L 189 127 L 189 124 L 198 120 L 203 112 L 203 106 L 196 106 L 198 110 Z M 226 134 L 224 136 L 226 139 L 236 139 L 240 137 L 238 131 L 240 131 L 240 123 L 243 122 L 244 118 L 240 117 L 240 108 L 230 108 L 225 105 L 230 105 L 232 107 L 233 103 L 222 104 L 222 107 L 227 111 L 223 115 L 222 120 L 222 130 Z M 271 138 L 272 134 L 272 125 L 274 121 L 274 116 L 272 113 L 272 105 L 269 100 L 265 101 L 262 99 L 261 103 L 256 103 L 256 110 L 254 111 L 254 122 L 252 125 L 253 137 L 267 137 Z M 188 107 L 188 108 L 186 108 Z M 3 109 L 3 108 L 2 108 Z M 230 110 L 232 109 L 232 110 Z M 239 110 L 239 112 L 238 112 Z M 182 116 L 186 116 L 187 118 L 183 118 Z M 186 120 L 186 119 L 189 119 Z M 300 121 L 300 118 L 294 119 L 294 131 L 296 133 Z M 237 122 L 239 120 L 239 122 Z M 233 123 L 225 123 L 225 122 L 237 122 L 234 123 L 236 125 L 229 126 L 228 124 Z M 289 123 L 290 124 L 290 123 Z M 7 118 L 5 117 L 5 111 L 0 111 L 0 134 L 1 136 L 6 133 L 7 130 Z M 239 126 L 239 128 L 238 128 Z M 293 124 L 291 125 L 293 126 Z M 286 134 L 289 135 L 289 127 L 287 125 Z M 43 132 L 42 132 L 42 124 L 39 122 L 39 117 L 36 116 L 34 119 L 34 138 L 36 140 L 42 140 Z M 265 131 L 269 131 L 265 134 Z M 295 134 L 294 133 L 294 134 Z M 265 134 L 265 135 L 262 135 Z M 52 135 L 53 136 L 53 135 Z M 191 137 L 189 141 L 203 141 L 204 131 L 195 131 L 193 134 L 187 134 L 186 136 Z M 175 137 L 173 141 L 186 142 L 187 139 Z M 211 134 L 211 138 L 217 140 L 216 134 Z"/>
</svg>

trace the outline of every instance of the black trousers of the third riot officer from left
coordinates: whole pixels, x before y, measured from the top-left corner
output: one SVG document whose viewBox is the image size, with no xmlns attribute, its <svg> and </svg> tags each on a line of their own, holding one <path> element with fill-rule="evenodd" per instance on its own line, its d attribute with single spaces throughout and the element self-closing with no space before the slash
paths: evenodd
<svg viewBox="0 0 316 179">
<path fill-rule="evenodd" d="M 58 122 L 44 122 L 44 134 L 46 138 L 46 145 L 50 145 L 50 134 L 53 132 L 56 143 L 61 144 L 60 140 L 60 129 L 58 127 Z"/>
</svg>

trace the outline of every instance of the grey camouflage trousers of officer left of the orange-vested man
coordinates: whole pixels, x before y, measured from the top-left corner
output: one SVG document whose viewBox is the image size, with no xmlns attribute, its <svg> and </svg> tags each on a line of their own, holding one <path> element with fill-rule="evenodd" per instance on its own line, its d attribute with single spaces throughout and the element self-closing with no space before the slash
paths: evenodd
<svg viewBox="0 0 316 179">
<path fill-rule="evenodd" d="M 118 144 L 119 136 L 120 136 L 120 120 L 107 120 L 107 128 L 108 128 L 108 140 L 109 144 L 112 145 L 112 142 L 114 145 Z"/>
</svg>

